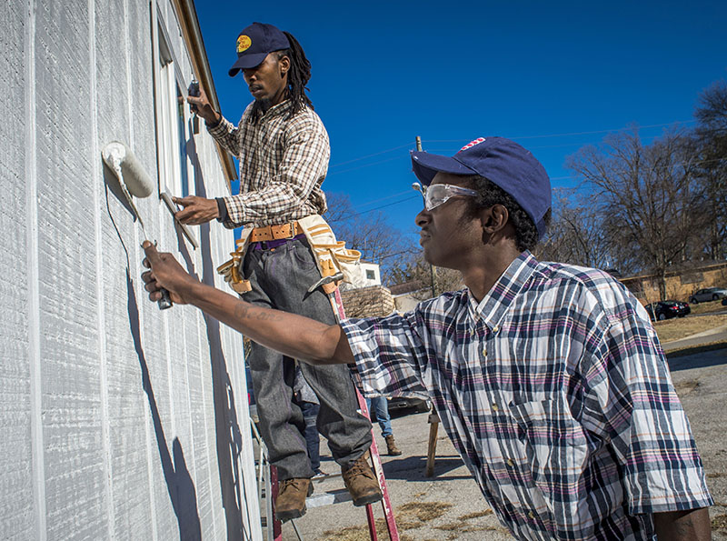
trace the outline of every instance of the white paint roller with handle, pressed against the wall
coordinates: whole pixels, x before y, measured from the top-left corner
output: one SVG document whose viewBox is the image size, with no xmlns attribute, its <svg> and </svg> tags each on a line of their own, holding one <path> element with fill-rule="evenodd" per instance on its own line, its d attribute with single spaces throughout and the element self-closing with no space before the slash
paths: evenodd
<svg viewBox="0 0 727 541">
<path fill-rule="evenodd" d="M 136 205 L 134 205 L 134 197 L 143 199 L 152 195 L 154 191 L 154 184 L 149 175 L 144 171 L 144 167 L 141 165 L 134 152 L 131 148 L 124 145 L 120 141 L 112 141 L 108 145 L 105 145 L 101 151 L 101 155 L 104 158 L 106 165 L 114 171 L 116 178 L 121 186 L 121 191 L 126 198 L 126 202 L 132 209 L 134 217 L 138 220 L 139 224 L 142 225 L 142 233 L 144 239 L 148 239 L 146 230 L 144 229 L 144 220 L 139 214 Z M 156 245 L 156 241 L 154 241 Z M 166 308 L 172 307 L 172 299 L 169 297 L 169 292 L 166 289 L 161 289 L 162 298 L 159 299 L 159 309 L 165 310 Z"/>
</svg>

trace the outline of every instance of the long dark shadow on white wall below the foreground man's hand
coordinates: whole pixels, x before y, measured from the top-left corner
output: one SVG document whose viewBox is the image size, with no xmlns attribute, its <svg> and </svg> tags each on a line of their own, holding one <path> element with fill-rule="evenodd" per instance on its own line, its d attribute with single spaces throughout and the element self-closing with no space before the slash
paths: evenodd
<svg viewBox="0 0 727 541">
<path fill-rule="evenodd" d="M 139 306 L 136 302 L 134 283 L 128 273 L 129 271 L 127 269 L 126 293 L 128 296 L 129 325 L 131 326 L 131 334 L 134 336 L 134 349 L 136 350 L 136 355 L 139 357 L 139 366 L 142 369 L 142 386 L 149 400 L 149 410 L 152 413 L 154 435 L 156 436 L 156 446 L 159 449 L 159 458 L 162 461 L 166 491 L 169 493 L 169 499 L 172 500 L 174 515 L 176 515 L 179 525 L 180 538 L 185 540 L 189 539 L 190 541 L 201 540 L 202 529 L 200 526 L 199 511 L 197 510 L 197 494 L 194 489 L 194 481 L 192 480 L 192 476 L 189 475 L 189 470 L 184 461 L 184 450 L 182 449 L 179 438 L 174 438 L 171 455 L 169 453 L 169 447 L 166 445 L 164 426 L 162 426 L 159 410 L 156 407 L 154 388 L 149 378 L 149 368 L 146 365 L 146 357 L 144 356 L 144 348 L 141 342 Z"/>
</svg>

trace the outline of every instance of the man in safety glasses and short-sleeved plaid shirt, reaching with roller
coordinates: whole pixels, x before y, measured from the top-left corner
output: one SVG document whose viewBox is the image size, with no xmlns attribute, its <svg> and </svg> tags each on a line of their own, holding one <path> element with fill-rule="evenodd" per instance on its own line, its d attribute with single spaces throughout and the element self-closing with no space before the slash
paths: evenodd
<svg viewBox="0 0 727 541">
<path fill-rule="evenodd" d="M 508 139 L 412 155 L 433 265 L 466 288 L 403 316 L 324 326 L 199 284 L 147 244 L 160 286 L 287 355 L 354 363 L 364 395 L 420 391 L 520 539 L 711 538 L 702 461 L 642 305 L 612 276 L 537 261 L 551 186 Z"/>
</svg>

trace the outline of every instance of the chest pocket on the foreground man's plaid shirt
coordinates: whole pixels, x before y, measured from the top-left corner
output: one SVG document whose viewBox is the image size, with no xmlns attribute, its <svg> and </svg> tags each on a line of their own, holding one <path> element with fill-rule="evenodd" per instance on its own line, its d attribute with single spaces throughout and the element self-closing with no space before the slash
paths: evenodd
<svg viewBox="0 0 727 541">
<path fill-rule="evenodd" d="M 535 486 L 556 516 L 568 513 L 566 508 L 583 496 L 588 460 L 583 426 L 563 399 L 510 403 L 509 411 Z"/>
</svg>

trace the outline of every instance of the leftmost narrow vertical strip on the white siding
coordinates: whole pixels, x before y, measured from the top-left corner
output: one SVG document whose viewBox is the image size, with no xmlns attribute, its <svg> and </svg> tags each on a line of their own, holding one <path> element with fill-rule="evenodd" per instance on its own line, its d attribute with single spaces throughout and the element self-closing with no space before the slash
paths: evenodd
<svg viewBox="0 0 727 541">
<path fill-rule="evenodd" d="M 28 2 L 25 27 L 25 209 L 28 286 L 28 361 L 30 364 L 30 431 L 33 464 L 35 538 L 47 538 L 45 444 L 40 352 L 40 280 L 38 265 L 38 174 L 35 125 L 35 0 Z"/>
</svg>

